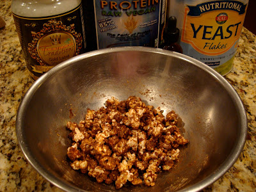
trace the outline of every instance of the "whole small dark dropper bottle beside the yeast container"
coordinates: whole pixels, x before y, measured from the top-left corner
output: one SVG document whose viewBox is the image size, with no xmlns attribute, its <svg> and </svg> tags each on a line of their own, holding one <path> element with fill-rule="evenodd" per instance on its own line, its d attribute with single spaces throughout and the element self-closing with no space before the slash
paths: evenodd
<svg viewBox="0 0 256 192">
<path fill-rule="evenodd" d="M 180 30 L 176 28 L 176 17 L 169 17 L 167 24 L 167 28 L 164 29 L 163 34 L 163 49 L 183 53 L 182 47 L 177 43 L 179 40 Z"/>
</svg>

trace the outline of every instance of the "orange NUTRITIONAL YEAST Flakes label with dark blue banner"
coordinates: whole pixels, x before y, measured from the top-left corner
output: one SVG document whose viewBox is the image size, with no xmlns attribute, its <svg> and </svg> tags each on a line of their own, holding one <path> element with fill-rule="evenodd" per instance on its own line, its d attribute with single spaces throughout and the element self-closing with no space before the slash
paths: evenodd
<svg viewBox="0 0 256 192">
<path fill-rule="evenodd" d="M 239 39 L 246 4 L 209 1 L 185 8 L 181 40 L 207 55 L 227 52 Z M 207 22 L 204 22 L 204 20 Z"/>
</svg>

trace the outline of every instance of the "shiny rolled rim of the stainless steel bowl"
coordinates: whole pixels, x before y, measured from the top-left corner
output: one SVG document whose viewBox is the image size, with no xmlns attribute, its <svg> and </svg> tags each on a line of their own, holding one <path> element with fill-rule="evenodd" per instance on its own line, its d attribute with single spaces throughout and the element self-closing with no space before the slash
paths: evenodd
<svg viewBox="0 0 256 192">
<path fill-rule="evenodd" d="M 28 92 L 25 93 L 22 101 L 20 102 L 19 109 L 17 111 L 17 120 L 16 120 L 16 134 L 17 134 L 17 139 L 19 141 L 20 148 L 26 157 L 26 159 L 29 161 L 29 163 L 35 168 L 35 170 L 40 173 L 45 179 L 47 179 L 49 182 L 54 184 L 60 189 L 63 189 L 65 191 L 81 191 L 81 189 L 77 188 L 76 186 L 68 185 L 66 183 L 61 182 L 60 179 L 54 177 L 49 173 L 47 170 L 45 170 L 41 164 L 39 164 L 36 159 L 33 158 L 31 152 L 29 152 L 29 147 L 26 145 L 26 138 L 22 134 L 22 129 L 23 129 L 23 120 L 24 120 L 24 112 L 26 111 L 26 108 L 28 108 L 28 104 L 33 97 L 34 93 L 36 90 L 40 87 L 41 84 L 43 84 L 47 79 L 51 78 L 54 76 L 56 72 L 59 70 L 62 70 L 63 68 L 68 67 L 69 65 L 73 65 L 76 61 L 83 60 L 85 58 L 90 58 L 99 54 L 108 54 L 111 52 L 125 52 L 125 51 L 139 51 L 139 52 L 152 52 L 152 53 L 157 53 L 157 54 L 164 54 L 164 55 L 169 55 L 173 56 L 175 58 L 179 58 L 181 60 L 186 60 L 189 61 L 192 65 L 195 65 L 198 68 L 201 68 L 208 74 L 211 74 L 212 77 L 214 77 L 221 85 L 225 87 L 225 90 L 227 90 L 228 94 L 232 97 L 234 104 L 236 106 L 240 125 L 240 134 L 239 138 L 236 142 L 236 146 L 233 148 L 232 152 L 228 156 L 228 158 L 220 165 L 220 168 L 216 170 L 215 173 L 212 175 L 209 175 L 207 178 L 204 180 L 196 183 L 195 185 L 188 186 L 185 189 L 179 190 L 180 192 L 185 192 L 185 191 L 200 191 L 204 189 L 205 187 L 209 186 L 216 180 L 218 180 L 222 175 L 224 175 L 232 166 L 234 163 L 236 163 L 239 155 L 241 154 L 245 140 L 246 140 L 246 135 L 247 135 L 247 116 L 246 116 L 246 111 L 243 106 L 243 102 L 239 95 L 237 94 L 236 90 L 231 86 L 228 81 L 221 76 L 218 72 L 216 72 L 214 69 L 211 67 L 208 67 L 201 61 L 195 60 L 194 58 L 191 58 L 189 56 L 186 56 L 184 54 L 180 54 L 179 52 L 172 52 L 172 51 L 166 51 L 163 49 L 157 49 L 157 48 L 152 48 L 152 47 L 113 47 L 113 48 L 107 48 L 107 49 L 100 49 L 97 51 L 91 51 L 91 52 L 86 52 L 84 54 L 81 54 L 79 56 L 75 56 L 74 58 L 70 58 L 69 60 L 63 61 L 59 65 L 56 65 L 56 67 L 52 68 L 48 72 L 46 72 L 43 76 L 38 78 L 35 83 L 31 85 L 29 88 Z"/>
</svg>

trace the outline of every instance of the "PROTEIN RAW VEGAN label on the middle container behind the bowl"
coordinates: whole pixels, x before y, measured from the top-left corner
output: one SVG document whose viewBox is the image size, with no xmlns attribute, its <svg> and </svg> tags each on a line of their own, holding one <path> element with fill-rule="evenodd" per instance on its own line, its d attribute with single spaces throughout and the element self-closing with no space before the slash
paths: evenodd
<svg viewBox="0 0 256 192">
<path fill-rule="evenodd" d="M 158 47 L 161 13 L 165 13 L 161 12 L 161 0 L 94 0 L 94 7 L 98 49 Z"/>
</svg>

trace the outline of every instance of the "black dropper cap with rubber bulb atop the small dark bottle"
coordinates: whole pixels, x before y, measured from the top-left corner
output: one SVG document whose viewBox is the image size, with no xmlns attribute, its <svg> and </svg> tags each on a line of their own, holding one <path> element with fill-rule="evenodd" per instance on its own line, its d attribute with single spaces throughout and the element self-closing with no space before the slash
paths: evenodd
<svg viewBox="0 0 256 192">
<path fill-rule="evenodd" d="M 167 28 L 164 29 L 164 42 L 166 43 L 175 43 L 179 40 L 180 30 L 176 28 L 177 19 L 172 16 L 168 19 Z"/>
</svg>

